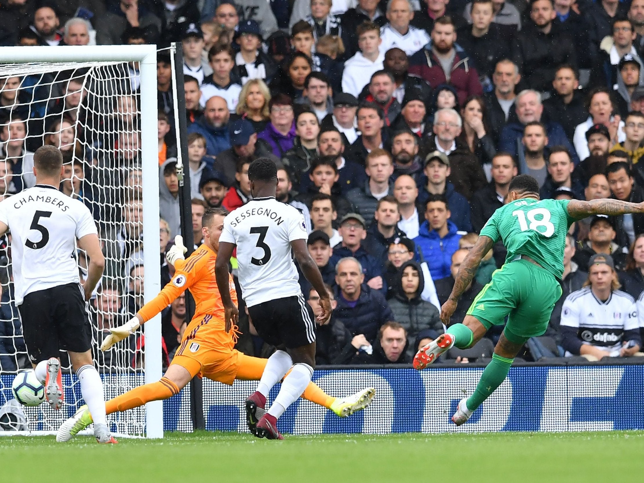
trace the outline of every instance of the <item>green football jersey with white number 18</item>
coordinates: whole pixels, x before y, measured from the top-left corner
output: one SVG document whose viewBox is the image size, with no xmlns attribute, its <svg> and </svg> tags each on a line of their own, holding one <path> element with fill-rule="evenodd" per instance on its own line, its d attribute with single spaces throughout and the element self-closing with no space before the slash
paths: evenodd
<svg viewBox="0 0 644 483">
<path fill-rule="evenodd" d="M 523 198 L 494 212 L 480 234 L 507 249 L 506 263 L 527 255 L 557 279 L 564 275 L 565 236 L 575 221 L 568 214 L 569 200 Z"/>
</svg>

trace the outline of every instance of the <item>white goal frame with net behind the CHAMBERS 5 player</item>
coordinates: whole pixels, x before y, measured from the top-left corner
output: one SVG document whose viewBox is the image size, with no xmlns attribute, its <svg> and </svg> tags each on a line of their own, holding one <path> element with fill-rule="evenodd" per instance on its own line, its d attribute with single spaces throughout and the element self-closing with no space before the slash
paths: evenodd
<svg viewBox="0 0 644 483">
<path fill-rule="evenodd" d="M 99 350 L 109 328 L 128 321 L 160 285 L 155 119 L 155 46 L 19 47 L 0 52 L 0 200 L 35 184 L 33 152 L 52 144 L 64 158 L 57 196 L 81 200 L 99 229 L 106 269 L 88 304 L 88 320 L 106 400 L 161 375 L 159 317 L 144 326 L 145 333 L 137 331 L 109 352 Z M 75 255 L 83 279 L 86 257 L 80 250 Z M 0 245 L 0 406 L 13 398 L 17 372 L 32 367 L 12 280 L 8 234 Z M 52 433 L 83 404 L 66 354 L 61 353 L 61 361 L 62 409 L 53 411 L 46 403 L 22 406 L 26 424 L 8 428 L 0 421 L 0 434 L 1 429 Z M 158 403 L 115 413 L 108 422 L 120 435 L 162 435 Z"/>
</svg>

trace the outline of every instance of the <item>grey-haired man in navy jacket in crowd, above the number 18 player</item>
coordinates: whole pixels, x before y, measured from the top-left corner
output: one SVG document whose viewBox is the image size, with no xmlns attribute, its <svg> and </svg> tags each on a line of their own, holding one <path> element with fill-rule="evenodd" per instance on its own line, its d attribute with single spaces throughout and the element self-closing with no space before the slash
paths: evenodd
<svg viewBox="0 0 644 483">
<path fill-rule="evenodd" d="M 547 1 L 547 0 L 542 0 Z M 554 73 L 553 73 L 554 77 Z M 509 122 L 501 131 L 501 138 L 498 142 L 498 150 L 506 151 L 513 156 L 516 156 L 519 160 L 519 166 L 522 164 L 523 158 L 523 146 L 522 138 L 524 135 L 524 130 L 526 125 L 529 122 L 541 122 L 542 115 L 544 113 L 544 105 L 541 102 L 541 94 L 535 90 L 526 89 L 518 93 L 515 99 L 515 111 L 518 122 Z M 565 135 L 564 128 L 561 124 L 545 120 L 544 118 L 544 128 L 545 135 L 547 137 L 546 146 L 565 146 L 573 156 L 574 164 L 579 163 L 580 158 L 583 159 L 585 156 L 578 157 L 575 151 L 575 147 L 570 143 L 568 138 Z M 592 126 L 592 123 L 589 124 L 589 127 Z M 585 132 L 585 130 L 584 130 Z M 582 133 L 583 136 L 583 133 Z"/>
</svg>

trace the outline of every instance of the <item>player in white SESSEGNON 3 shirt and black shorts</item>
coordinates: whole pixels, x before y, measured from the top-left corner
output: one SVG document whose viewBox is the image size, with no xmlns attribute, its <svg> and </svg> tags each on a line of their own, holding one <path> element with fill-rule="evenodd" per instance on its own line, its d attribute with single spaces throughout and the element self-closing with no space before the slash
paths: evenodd
<svg viewBox="0 0 644 483">
<path fill-rule="evenodd" d="M 228 261 L 237 247 L 238 276 L 249 316 L 260 337 L 278 348 L 269 357 L 256 392 L 246 400 L 246 419 L 257 437 L 283 439 L 277 419 L 310 383 L 316 355 L 314 315 L 299 288 L 291 250 L 307 280 L 323 297 L 317 316 L 321 325 L 331 316 L 331 301 L 317 265 L 308 254 L 302 214 L 275 198 L 278 184 L 275 163 L 269 158 L 254 160 L 248 178 L 252 201 L 223 220 L 215 273 L 217 285 L 228 287 Z M 238 310 L 228 290 L 220 290 L 220 294 L 226 330 L 230 330 L 237 322 Z M 291 367 L 278 396 L 265 412 L 270 389 Z"/>
</svg>

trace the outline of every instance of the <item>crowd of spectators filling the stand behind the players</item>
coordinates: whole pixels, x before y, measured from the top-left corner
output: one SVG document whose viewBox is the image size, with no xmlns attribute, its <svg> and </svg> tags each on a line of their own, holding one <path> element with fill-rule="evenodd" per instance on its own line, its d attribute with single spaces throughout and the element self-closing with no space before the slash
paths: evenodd
<svg viewBox="0 0 644 483">
<path fill-rule="evenodd" d="M 538 180 L 542 198 L 644 201 L 644 0 L 0 0 L 3 46 L 171 42 L 184 52 L 194 243 L 205 209 L 251 200 L 248 166 L 272 158 L 277 198 L 305 217 L 332 294 L 318 363 L 408 363 L 435 339 L 440 304 L 518 173 Z M 88 82 L 100 80 L 82 71 L 50 73 L 48 88 L 43 76 L 0 79 L 0 196 L 33 185 L 39 144 L 66 153 L 61 191 L 90 206 L 108 255 L 92 301 L 99 336 L 140 307 L 144 277 L 140 81 L 135 64 L 119 72 L 124 85 L 110 91 L 109 114 L 98 120 Z M 160 50 L 162 282 L 180 227 L 171 79 Z M 92 122 L 99 129 L 87 129 Z M 640 354 L 642 233 L 638 214 L 573 223 L 562 298 L 545 338 L 522 357 Z M 498 242 L 453 320 L 505 255 Z M 319 294 L 300 280 L 316 312 Z M 8 293 L 0 354 L 17 354 L 24 348 L 12 337 L 15 316 L 5 314 Z M 595 323 L 581 313 L 582 299 L 598 305 Z M 165 363 L 185 313 L 183 298 L 164 312 Z M 243 313 L 238 348 L 269 354 Z M 489 357 L 498 336 L 492 330 L 478 349 L 444 359 Z M 104 355 L 102 364 L 137 366 L 143 343 L 133 337 L 135 357 Z M 0 355 L 0 369 L 15 370 L 18 360 Z"/>
</svg>

